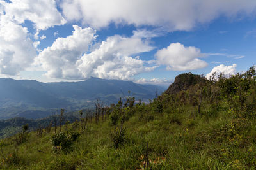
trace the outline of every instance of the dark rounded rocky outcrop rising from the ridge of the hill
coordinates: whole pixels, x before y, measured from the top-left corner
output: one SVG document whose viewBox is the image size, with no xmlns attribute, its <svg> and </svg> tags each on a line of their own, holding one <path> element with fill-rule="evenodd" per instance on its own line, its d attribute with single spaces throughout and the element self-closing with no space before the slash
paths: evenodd
<svg viewBox="0 0 256 170">
<path fill-rule="evenodd" d="M 184 73 L 175 77 L 174 83 L 172 83 L 166 90 L 167 94 L 176 94 L 181 90 L 188 90 L 189 87 L 196 85 L 198 83 L 205 83 L 207 79 L 200 75 L 195 75 L 192 73 Z"/>
</svg>

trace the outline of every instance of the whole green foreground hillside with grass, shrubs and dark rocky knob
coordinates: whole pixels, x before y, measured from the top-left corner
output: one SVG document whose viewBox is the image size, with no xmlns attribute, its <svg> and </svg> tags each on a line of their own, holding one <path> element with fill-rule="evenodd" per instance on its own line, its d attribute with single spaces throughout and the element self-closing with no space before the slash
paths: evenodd
<svg viewBox="0 0 256 170">
<path fill-rule="evenodd" d="M 186 87 L 185 87 L 186 86 Z M 181 74 L 156 99 L 132 96 L 79 120 L 1 140 L 2 169 L 255 169 L 256 73 Z M 62 124 L 61 124 L 62 122 Z"/>
</svg>

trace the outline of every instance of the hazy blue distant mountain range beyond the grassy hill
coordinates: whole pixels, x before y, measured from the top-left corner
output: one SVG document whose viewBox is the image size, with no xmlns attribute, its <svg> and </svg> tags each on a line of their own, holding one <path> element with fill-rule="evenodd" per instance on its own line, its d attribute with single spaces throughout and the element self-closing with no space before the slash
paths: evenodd
<svg viewBox="0 0 256 170">
<path fill-rule="evenodd" d="M 59 83 L 0 78 L 0 119 L 43 118 L 60 108 L 68 111 L 88 108 L 97 98 L 106 105 L 128 95 L 147 101 L 156 97 L 156 92 L 161 94 L 164 90 L 155 85 L 100 78 Z"/>
</svg>

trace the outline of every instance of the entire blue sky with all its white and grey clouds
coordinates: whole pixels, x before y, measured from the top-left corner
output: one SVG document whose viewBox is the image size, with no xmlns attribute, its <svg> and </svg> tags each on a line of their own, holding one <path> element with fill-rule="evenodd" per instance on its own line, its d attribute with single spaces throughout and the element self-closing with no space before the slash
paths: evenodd
<svg viewBox="0 0 256 170">
<path fill-rule="evenodd" d="M 255 57 L 255 0 L 0 0 L 1 78 L 168 86 Z"/>
</svg>

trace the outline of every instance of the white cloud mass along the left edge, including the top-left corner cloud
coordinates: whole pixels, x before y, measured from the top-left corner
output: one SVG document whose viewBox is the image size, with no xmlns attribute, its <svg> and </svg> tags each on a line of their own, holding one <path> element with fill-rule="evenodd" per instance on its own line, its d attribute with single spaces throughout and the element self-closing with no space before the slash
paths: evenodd
<svg viewBox="0 0 256 170">
<path fill-rule="evenodd" d="M 54 0 L 0 0 L 0 73 L 15 76 L 31 66 L 36 57 L 36 46 L 25 20 L 34 23 L 36 33 L 54 25 L 65 24 Z M 38 38 L 38 34 L 35 35 Z M 41 36 L 40 39 L 44 39 Z"/>
</svg>

